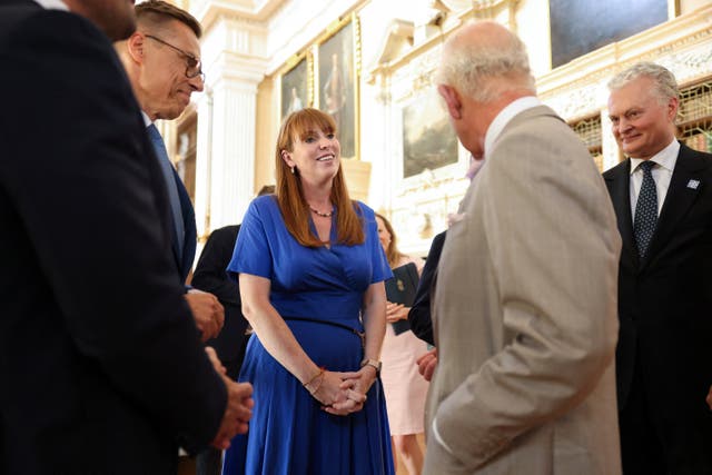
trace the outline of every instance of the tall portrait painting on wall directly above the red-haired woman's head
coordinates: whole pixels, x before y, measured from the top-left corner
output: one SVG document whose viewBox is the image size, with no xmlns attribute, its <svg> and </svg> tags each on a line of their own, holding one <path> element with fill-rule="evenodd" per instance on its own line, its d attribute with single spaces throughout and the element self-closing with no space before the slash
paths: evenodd
<svg viewBox="0 0 712 475">
<path fill-rule="evenodd" d="M 319 109 L 336 121 L 342 156 L 356 157 L 356 72 L 354 23 L 319 44 Z"/>
</svg>

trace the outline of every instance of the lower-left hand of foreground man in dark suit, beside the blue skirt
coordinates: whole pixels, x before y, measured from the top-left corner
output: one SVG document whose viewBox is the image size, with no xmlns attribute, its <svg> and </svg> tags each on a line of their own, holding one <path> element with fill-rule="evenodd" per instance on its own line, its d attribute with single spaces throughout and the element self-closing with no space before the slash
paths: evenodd
<svg viewBox="0 0 712 475">
<path fill-rule="evenodd" d="M 253 385 L 249 383 L 235 383 L 222 375 L 227 386 L 227 407 L 222 415 L 220 428 L 212 439 L 212 446 L 226 449 L 230 446 L 230 439 L 237 434 L 245 434 L 248 422 L 253 416 Z"/>
</svg>

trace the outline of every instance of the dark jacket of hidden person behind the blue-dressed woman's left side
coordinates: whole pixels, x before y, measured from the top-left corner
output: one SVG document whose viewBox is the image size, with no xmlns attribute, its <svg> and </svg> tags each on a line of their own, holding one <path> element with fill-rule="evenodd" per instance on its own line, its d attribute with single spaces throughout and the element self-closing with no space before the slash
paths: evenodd
<svg viewBox="0 0 712 475">
<path fill-rule="evenodd" d="M 239 374 L 245 350 L 247 320 L 243 315 L 240 288 L 227 276 L 239 225 L 226 226 L 210 234 L 192 275 L 192 286 L 215 295 L 225 307 L 225 325 L 220 334 L 207 342 L 212 346 L 230 377 Z"/>
</svg>

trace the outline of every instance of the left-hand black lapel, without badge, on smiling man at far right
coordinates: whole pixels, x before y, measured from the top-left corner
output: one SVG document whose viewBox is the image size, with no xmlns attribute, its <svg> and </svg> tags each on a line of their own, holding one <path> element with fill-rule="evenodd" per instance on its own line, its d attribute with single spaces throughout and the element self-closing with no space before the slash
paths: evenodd
<svg viewBox="0 0 712 475">
<path fill-rule="evenodd" d="M 633 268 L 639 266 L 637 247 L 633 236 L 633 216 L 631 214 L 631 160 L 619 167 L 615 174 L 606 177 L 611 200 L 619 221 L 619 232 L 623 240 L 621 258 Z"/>
</svg>

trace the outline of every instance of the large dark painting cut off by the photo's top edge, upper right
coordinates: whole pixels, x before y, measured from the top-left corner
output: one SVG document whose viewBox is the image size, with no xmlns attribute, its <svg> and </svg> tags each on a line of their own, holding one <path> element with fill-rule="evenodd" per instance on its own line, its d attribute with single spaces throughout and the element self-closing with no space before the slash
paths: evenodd
<svg viewBox="0 0 712 475">
<path fill-rule="evenodd" d="M 550 0 L 552 67 L 668 20 L 668 0 Z"/>
</svg>

